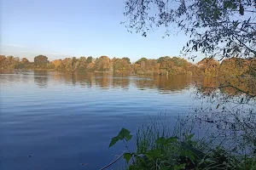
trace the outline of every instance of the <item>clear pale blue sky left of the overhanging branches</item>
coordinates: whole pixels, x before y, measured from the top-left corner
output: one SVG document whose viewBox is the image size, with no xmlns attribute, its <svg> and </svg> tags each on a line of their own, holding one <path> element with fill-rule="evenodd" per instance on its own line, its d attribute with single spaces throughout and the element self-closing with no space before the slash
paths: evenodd
<svg viewBox="0 0 256 170">
<path fill-rule="evenodd" d="M 125 26 L 124 0 L 1 0 L 1 54 L 30 60 L 108 55 L 157 59 L 177 56 L 183 34 L 162 38 L 163 30 L 142 37 Z M 201 58 L 199 58 L 201 59 Z M 196 59 L 196 60 L 199 60 Z"/>
</svg>

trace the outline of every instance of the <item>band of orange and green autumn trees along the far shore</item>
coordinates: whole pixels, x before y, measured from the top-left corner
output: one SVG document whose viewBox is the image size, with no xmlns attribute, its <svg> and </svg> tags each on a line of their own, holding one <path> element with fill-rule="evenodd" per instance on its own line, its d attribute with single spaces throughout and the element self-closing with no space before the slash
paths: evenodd
<svg viewBox="0 0 256 170">
<path fill-rule="evenodd" d="M 160 57 L 159 59 L 138 59 L 131 63 L 130 59 L 109 59 L 80 57 L 49 61 L 45 55 L 38 55 L 30 62 L 26 58 L 0 55 L 1 70 L 49 70 L 49 71 L 106 71 L 137 75 L 193 75 L 210 77 L 248 77 L 256 75 L 256 59 L 230 58 L 220 63 L 216 59 L 205 58 L 196 64 L 179 57 Z"/>
</svg>

